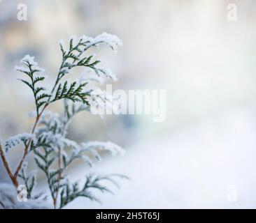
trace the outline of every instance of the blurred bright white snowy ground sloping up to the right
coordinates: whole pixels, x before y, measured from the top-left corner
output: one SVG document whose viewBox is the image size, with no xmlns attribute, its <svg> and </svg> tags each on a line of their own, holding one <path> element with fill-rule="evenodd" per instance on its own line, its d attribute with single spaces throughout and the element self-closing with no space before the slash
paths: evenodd
<svg viewBox="0 0 256 223">
<path fill-rule="evenodd" d="M 256 208 L 255 114 L 225 112 L 104 159 L 93 171 L 131 180 L 100 195 L 102 204 L 77 199 L 67 208 Z"/>
</svg>

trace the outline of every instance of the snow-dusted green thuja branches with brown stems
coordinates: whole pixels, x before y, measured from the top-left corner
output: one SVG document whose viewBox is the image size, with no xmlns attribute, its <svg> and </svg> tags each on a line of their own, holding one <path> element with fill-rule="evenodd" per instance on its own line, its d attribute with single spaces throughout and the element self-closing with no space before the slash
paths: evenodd
<svg viewBox="0 0 256 223">
<path fill-rule="evenodd" d="M 66 175 L 66 170 L 78 159 L 82 159 L 92 166 L 94 160 L 101 159 L 99 151 L 110 151 L 113 155 L 124 153 L 120 146 L 111 141 L 87 141 L 78 144 L 67 138 L 69 124 L 76 114 L 90 112 L 92 102 L 97 101 L 97 98 L 100 98 L 102 102 L 107 100 L 103 96 L 103 91 L 95 94 L 93 93 L 95 89 L 90 88 L 88 84 L 97 79 L 117 80 L 109 70 L 101 68 L 101 61 L 96 59 L 96 56 L 87 55 L 87 49 L 99 47 L 102 44 L 108 45 L 116 51 L 122 42 L 117 36 L 108 33 L 102 33 L 96 38 L 72 37 L 68 46 L 64 44 L 64 41 L 60 41 L 62 63 L 52 89 L 47 89 L 45 86 L 44 70 L 34 61 L 34 57 L 24 56 L 21 60 L 22 66 L 15 68 L 22 72 L 20 81 L 26 84 L 34 95 L 36 111 L 32 116 L 35 122 L 31 132 L 10 137 L 3 146 L 0 143 L 0 154 L 13 185 L 18 187 L 18 185 L 24 184 L 27 189 L 27 198 L 30 200 L 47 199 L 52 201 L 54 208 L 63 208 L 77 197 L 99 201 L 94 196 L 93 190 L 111 192 L 104 185 L 104 180 L 117 185 L 116 178 L 126 178 L 118 174 L 108 176 L 90 174 L 85 176 L 81 187 L 78 182 L 71 183 Z M 85 76 L 76 82 L 67 81 L 66 76 L 76 67 L 90 69 L 98 78 L 92 79 Z M 48 106 L 57 100 L 63 101 L 63 114 L 48 111 Z M 6 159 L 6 153 L 17 144 L 24 146 L 24 152 L 17 168 L 13 171 Z M 34 192 L 36 172 L 27 174 L 26 159 L 28 155 L 34 157 L 36 166 L 43 172 L 50 197 L 47 196 L 47 193 L 36 194 Z"/>
</svg>

